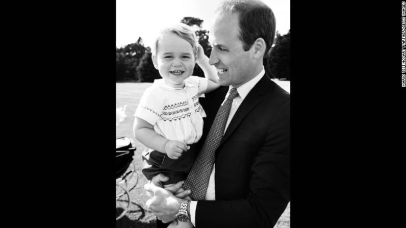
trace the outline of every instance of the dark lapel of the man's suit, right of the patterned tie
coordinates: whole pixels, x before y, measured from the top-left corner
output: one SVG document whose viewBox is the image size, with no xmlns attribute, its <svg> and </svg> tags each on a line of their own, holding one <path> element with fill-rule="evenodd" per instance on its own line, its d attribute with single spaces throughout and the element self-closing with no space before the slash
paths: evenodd
<svg viewBox="0 0 406 228">
<path fill-rule="evenodd" d="M 270 84 L 270 78 L 265 73 L 262 79 L 249 91 L 233 119 L 231 120 L 229 127 L 225 131 L 225 134 L 221 140 L 220 146 L 230 137 L 241 121 L 248 115 L 248 113 L 262 102 L 262 95 L 266 93 Z"/>
</svg>

